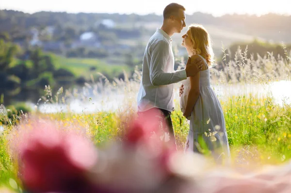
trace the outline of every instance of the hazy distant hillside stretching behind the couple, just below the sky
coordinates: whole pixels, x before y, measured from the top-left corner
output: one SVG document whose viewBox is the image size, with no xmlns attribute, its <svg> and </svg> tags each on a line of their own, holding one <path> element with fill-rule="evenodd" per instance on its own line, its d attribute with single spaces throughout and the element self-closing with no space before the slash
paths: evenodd
<svg viewBox="0 0 291 193">
<path fill-rule="evenodd" d="M 108 22 L 112 23 L 111 27 L 108 27 Z M 186 23 L 187 25 L 200 23 L 209 30 L 216 56 L 221 55 L 222 43 L 225 47 L 236 42 L 250 42 L 254 39 L 273 43 L 291 43 L 289 35 L 291 16 L 268 14 L 214 17 L 210 14 L 196 12 L 193 15 L 186 15 Z M 12 10 L 0 10 L 0 32 L 8 32 L 16 43 L 23 45 L 23 39 L 27 39 L 27 37 L 29 40 L 32 39 L 31 33 L 34 34 L 34 32 L 31 30 L 38 30 L 45 34 L 39 35 L 41 37 L 38 38 L 45 42 L 43 46 L 47 47 L 48 51 L 64 56 L 70 49 L 82 45 L 80 44 L 82 34 L 92 32 L 97 36 L 96 44 L 84 44 L 84 46 L 101 46 L 105 50 L 98 50 L 103 54 L 101 56 L 93 54 L 93 57 L 133 54 L 133 58 L 140 60 L 146 42 L 161 25 L 162 16 L 154 14 L 68 14 L 65 12 L 26 14 Z M 186 29 L 182 33 L 185 31 Z M 173 36 L 174 45 L 178 46 L 180 56 L 185 54 L 185 49 L 179 46 L 182 33 Z M 107 62 L 112 64 L 116 64 L 118 61 L 120 62 L 120 59 L 107 59 Z M 120 63 L 125 63 L 125 60 Z"/>
</svg>

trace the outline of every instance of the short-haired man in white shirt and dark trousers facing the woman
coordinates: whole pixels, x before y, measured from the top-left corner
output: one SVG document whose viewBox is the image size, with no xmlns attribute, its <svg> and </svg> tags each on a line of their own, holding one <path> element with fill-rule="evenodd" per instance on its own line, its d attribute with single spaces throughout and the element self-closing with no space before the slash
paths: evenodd
<svg viewBox="0 0 291 193">
<path fill-rule="evenodd" d="M 161 29 L 157 29 L 146 45 L 143 59 L 142 81 L 138 92 L 138 114 L 159 109 L 166 118 L 169 132 L 174 137 L 171 112 L 174 111 L 174 84 L 194 76 L 201 70 L 203 60 L 191 63 L 188 59 L 186 68 L 174 72 L 174 54 L 171 36 L 180 33 L 186 27 L 185 8 L 178 3 L 171 3 L 164 8 Z M 175 139 L 175 138 L 174 138 Z"/>
</svg>

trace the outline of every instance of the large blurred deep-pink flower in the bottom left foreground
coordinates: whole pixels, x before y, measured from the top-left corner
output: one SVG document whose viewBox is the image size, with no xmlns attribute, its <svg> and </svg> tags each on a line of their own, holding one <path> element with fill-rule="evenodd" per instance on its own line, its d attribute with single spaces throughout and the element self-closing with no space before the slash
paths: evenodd
<svg viewBox="0 0 291 193">
<path fill-rule="evenodd" d="M 18 145 L 19 173 L 32 192 L 78 190 L 97 162 L 93 144 L 79 134 L 60 132 L 51 122 L 36 122 Z"/>
</svg>

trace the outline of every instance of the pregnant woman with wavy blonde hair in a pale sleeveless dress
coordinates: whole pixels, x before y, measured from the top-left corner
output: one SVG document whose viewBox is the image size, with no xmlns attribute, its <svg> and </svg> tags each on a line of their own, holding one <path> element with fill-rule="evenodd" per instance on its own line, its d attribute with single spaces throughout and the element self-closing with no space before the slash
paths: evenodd
<svg viewBox="0 0 291 193">
<path fill-rule="evenodd" d="M 182 44 L 191 59 L 201 57 L 205 65 L 195 76 L 182 81 L 180 107 L 190 120 L 190 130 L 185 150 L 205 152 L 210 150 L 216 160 L 230 156 L 226 124 L 221 104 L 210 86 L 209 67 L 213 62 L 210 36 L 201 25 L 191 25 L 182 36 Z"/>
</svg>

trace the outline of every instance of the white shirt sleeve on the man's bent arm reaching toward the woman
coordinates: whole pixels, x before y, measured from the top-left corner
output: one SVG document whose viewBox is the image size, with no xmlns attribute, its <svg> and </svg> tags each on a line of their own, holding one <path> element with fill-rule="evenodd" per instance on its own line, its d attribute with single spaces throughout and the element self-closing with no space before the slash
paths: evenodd
<svg viewBox="0 0 291 193">
<path fill-rule="evenodd" d="M 153 86 L 169 85 L 187 79 L 185 69 L 175 71 L 174 73 L 164 72 L 167 61 L 171 56 L 170 52 L 170 45 L 165 41 L 161 40 L 153 45 L 149 67 L 150 81 Z"/>
</svg>

